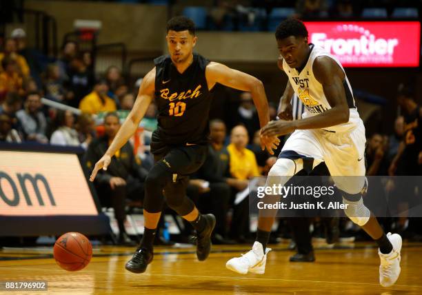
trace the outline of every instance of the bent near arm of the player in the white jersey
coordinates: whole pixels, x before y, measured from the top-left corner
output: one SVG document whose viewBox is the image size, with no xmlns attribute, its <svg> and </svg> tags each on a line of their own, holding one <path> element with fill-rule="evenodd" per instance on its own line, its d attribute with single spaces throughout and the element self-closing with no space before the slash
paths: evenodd
<svg viewBox="0 0 422 295">
<path fill-rule="evenodd" d="M 345 74 L 330 57 L 317 57 L 312 70 L 316 80 L 323 86 L 323 91 L 330 110 L 297 121 L 275 121 L 262 130 L 266 136 L 283 135 L 297 129 L 319 129 L 339 125 L 349 121 L 349 106 L 345 97 L 343 80 Z"/>
</svg>

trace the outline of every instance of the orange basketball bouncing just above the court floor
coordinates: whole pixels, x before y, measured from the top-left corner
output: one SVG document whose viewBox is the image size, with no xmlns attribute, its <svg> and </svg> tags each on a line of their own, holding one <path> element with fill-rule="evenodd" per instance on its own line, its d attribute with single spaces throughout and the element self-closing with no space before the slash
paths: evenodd
<svg viewBox="0 0 422 295">
<path fill-rule="evenodd" d="M 90 240 L 79 232 L 68 232 L 57 238 L 54 244 L 54 259 L 57 264 L 68 270 L 75 272 L 83 269 L 92 258 L 92 245 Z"/>
</svg>

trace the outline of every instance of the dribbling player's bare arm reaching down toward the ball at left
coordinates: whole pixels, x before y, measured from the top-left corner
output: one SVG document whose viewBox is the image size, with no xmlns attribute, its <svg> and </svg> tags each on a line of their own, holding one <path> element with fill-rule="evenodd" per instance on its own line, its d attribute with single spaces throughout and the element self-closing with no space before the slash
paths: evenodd
<svg viewBox="0 0 422 295">
<path fill-rule="evenodd" d="M 90 176 L 90 181 L 94 181 L 97 172 L 101 168 L 103 168 L 103 170 L 107 170 L 108 165 L 110 165 L 112 156 L 128 141 L 128 139 L 130 139 L 130 136 L 132 136 L 137 130 L 139 122 L 148 109 L 148 105 L 150 105 L 152 99 L 154 98 L 154 84 L 155 68 L 152 69 L 143 78 L 141 87 L 139 88 L 137 100 L 135 101 L 132 110 L 121 125 L 119 132 L 117 132 L 116 137 L 114 137 L 112 143 L 108 147 L 106 154 L 104 154 L 103 157 L 95 164 L 94 170 L 92 170 L 92 174 Z"/>
</svg>

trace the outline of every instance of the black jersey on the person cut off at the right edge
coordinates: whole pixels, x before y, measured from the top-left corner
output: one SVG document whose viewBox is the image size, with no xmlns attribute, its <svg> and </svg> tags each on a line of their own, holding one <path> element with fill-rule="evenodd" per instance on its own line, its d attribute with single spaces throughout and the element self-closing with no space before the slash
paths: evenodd
<svg viewBox="0 0 422 295">
<path fill-rule="evenodd" d="M 403 160 L 409 172 L 420 170 L 420 167 L 418 168 L 418 156 L 422 151 L 422 118 L 420 110 L 421 106 L 418 105 L 412 114 L 405 115 L 404 140 L 406 148 L 403 154 Z"/>
</svg>

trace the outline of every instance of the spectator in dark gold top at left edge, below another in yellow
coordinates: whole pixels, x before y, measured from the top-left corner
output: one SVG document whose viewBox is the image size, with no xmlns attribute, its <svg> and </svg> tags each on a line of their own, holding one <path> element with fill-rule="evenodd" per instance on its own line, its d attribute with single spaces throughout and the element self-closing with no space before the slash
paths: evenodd
<svg viewBox="0 0 422 295">
<path fill-rule="evenodd" d="M 0 72 L 0 102 L 6 98 L 8 92 L 17 92 L 17 94 L 23 95 L 23 79 L 19 74 L 16 61 L 10 57 L 4 57 L 1 66 L 4 70 Z"/>
</svg>

